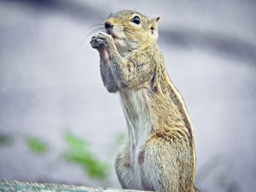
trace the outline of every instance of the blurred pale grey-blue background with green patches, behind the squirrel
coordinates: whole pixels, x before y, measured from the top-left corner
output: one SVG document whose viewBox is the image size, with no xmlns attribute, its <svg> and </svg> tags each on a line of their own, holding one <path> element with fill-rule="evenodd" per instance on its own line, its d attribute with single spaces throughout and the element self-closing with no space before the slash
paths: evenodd
<svg viewBox="0 0 256 192">
<path fill-rule="evenodd" d="M 89 45 L 110 9 L 160 15 L 159 47 L 195 132 L 201 191 L 255 191 L 256 3 L 0 1 L 0 178 L 120 188 L 127 128 Z"/>
</svg>

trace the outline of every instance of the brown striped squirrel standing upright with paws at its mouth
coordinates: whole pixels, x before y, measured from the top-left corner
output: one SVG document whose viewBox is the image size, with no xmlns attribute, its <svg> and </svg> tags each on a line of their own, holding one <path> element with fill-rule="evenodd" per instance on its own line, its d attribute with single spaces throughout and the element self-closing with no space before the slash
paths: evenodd
<svg viewBox="0 0 256 192">
<path fill-rule="evenodd" d="M 127 121 L 115 168 L 122 188 L 197 191 L 192 123 L 157 45 L 159 16 L 110 13 L 105 32 L 91 38 L 103 84 L 118 92 Z"/>
</svg>

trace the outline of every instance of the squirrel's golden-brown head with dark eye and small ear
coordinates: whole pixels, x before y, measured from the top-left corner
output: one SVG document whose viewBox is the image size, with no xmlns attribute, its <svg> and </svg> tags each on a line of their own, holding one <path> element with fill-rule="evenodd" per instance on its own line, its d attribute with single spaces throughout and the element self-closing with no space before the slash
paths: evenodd
<svg viewBox="0 0 256 192">
<path fill-rule="evenodd" d="M 108 16 L 105 31 L 113 37 L 118 47 L 141 49 L 157 41 L 159 18 L 147 18 L 139 12 L 122 10 Z"/>
</svg>

